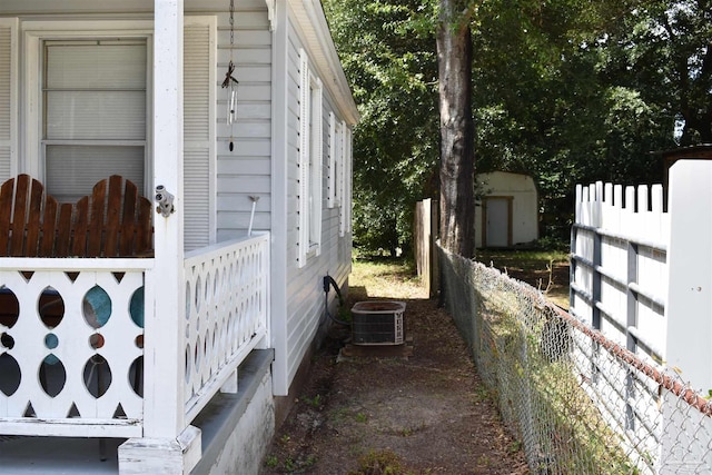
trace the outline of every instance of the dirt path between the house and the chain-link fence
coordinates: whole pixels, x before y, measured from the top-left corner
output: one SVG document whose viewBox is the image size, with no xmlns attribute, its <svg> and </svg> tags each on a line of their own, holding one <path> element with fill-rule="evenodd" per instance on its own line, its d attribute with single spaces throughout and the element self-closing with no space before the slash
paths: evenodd
<svg viewBox="0 0 712 475">
<path fill-rule="evenodd" d="M 398 289 L 355 287 L 347 305 L 406 301 L 412 356 L 339 358 L 348 331 L 334 328 L 263 475 L 528 473 L 449 316 L 417 287 Z"/>
</svg>

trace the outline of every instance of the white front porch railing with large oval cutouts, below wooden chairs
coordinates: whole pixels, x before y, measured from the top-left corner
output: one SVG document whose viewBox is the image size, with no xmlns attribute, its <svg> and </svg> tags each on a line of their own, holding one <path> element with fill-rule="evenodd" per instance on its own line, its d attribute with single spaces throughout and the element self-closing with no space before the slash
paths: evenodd
<svg viewBox="0 0 712 475">
<path fill-rule="evenodd" d="M 152 259 L 3 258 L 0 434 L 142 434 Z"/>
</svg>

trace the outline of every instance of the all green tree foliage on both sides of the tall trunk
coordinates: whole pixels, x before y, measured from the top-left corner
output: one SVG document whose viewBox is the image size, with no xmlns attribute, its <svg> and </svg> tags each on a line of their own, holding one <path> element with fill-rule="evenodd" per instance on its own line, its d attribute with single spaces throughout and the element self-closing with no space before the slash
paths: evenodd
<svg viewBox="0 0 712 475">
<path fill-rule="evenodd" d="M 439 0 L 325 0 L 359 105 L 354 241 L 409 249 L 438 198 Z M 476 172 L 530 174 L 543 237 L 567 240 L 576 184 L 661 182 L 653 151 L 712 142 L 712 6 L 682 0 L 466 0 Z"/>
</svg>

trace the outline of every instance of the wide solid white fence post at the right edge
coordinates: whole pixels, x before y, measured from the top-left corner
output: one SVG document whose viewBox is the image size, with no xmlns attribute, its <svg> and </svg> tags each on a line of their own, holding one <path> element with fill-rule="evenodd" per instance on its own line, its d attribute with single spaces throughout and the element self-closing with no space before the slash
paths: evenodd
<svg viewBox="0 0 712 475">
<path fill-rule="evenodd" d="M 712 161 L 683 159 L 671 167 L 669 214 L 665 359 L 684 382 L 708 394 L 712 389 Z M 711 453 L 694 438 L 712 431 L 712 419 L 669 392 L 662 396 L 660 473 L 709 468 Z"/>
</svg>

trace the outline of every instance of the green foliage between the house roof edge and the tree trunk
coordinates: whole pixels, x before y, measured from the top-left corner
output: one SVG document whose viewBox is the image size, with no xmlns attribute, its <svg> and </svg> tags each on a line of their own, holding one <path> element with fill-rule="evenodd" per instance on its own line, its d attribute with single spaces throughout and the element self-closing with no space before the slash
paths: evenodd
<svg viewBox="0 0 712 475">
<path fill-rule="evenodd" d="M 415 201 L 437 196 L 437 66 L 427 9 L 418 0 L 326 0 L 324 8 L 362 115 L 355 246 L 408 251 Z"/>
</svg>

